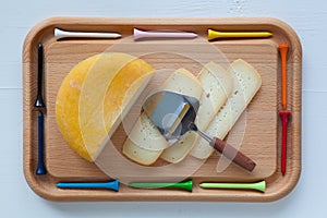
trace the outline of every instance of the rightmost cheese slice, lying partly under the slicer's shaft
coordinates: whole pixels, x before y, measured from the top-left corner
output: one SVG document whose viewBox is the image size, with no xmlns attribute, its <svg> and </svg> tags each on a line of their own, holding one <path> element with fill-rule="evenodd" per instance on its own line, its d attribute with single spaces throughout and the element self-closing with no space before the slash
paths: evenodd
<svg viewBox="0 0 327 218">
<path fill-rule="evenodd" d="M 207 134 L 219 138 L 226 137 L 262 85 L 258 72 L 244 60 L 233 61 L 230 73 L 234 80 L 232 95 L 206 130 Z M 206 159 L 213 150 L 214 148 L 209 146 L 207 141 L 199 138 L 191 155 L 199 159 Z"/>
</svg>

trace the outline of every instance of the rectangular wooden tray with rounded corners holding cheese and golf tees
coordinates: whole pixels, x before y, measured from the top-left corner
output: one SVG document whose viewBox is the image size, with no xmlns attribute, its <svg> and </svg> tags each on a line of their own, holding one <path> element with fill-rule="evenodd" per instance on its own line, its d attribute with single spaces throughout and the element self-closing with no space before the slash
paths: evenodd
<svg viewBox="0 0 327 218">
<path fill-rule="evenodd" d="M 81 32 L 118 32 L 122 39 L 56 40 L 55 27 Z M 55 114 L 57 92 L 70 70 L 85 58 L 106 51 L 133 34 L 133 28 L 179 29 L 197 33 L 206 38 L 207 29 L 269 31 L 266 39 L 228 39 L 211 44 L 228 58 L 244 59 L 261 73 L 263 85 L 246 110 L 246 129 L 241 150 L 257 162 L 249 173 L 231 165 L 217 173 L 220 155 L 215 153 L 189 179 L 193 180 L 192 193 L 178 190 L 136 190 L 121 184 L 119 192 L 108 190 L 60 190 L 61 181 L 107 181 L 110 178 L 95 164 L 76 155 L 62 138 Z M 45 156 L 48 173 L 36 175 L 37 112 L 34 108 L 37 77 L 37 45 L 45 47 Z M 284 177 L 280 173 L 281 123 L 280 61 L 278 44 L 290 45 L 288 57 L 288 109 L 292 112 L 288 135 L 288 165 Z M 164 44 L 164 43 L 162 43 Z M 159 57 L 157 58 L 158 60 Z M 160 63 L 159 63 L 160 64 Z M 185 64 L 185 63 L 184 63 Z M 187 63 L 186 63 L 187 64 Z M 190 65 L 192 69 L 192 65 Z M 296 34 L 275 19 L 82 19 L 53 17 L 37 24 L 26 36 L 23 49 L 24 85 L 24 173 L 31 187 L 51 201 L 238 201 L 269 202 L 287 195 L 296 184 L 301 173 L 301 68 L 302 50 Z M 198 71 L 194 71 L 197 73 Z M 238 126 L 238 124 L 237 124 Z M 117 131 L 120 132 L 120 129 Z M 113 136 L 122 144 L 122 135 Z M 161 177 L 165 177 L 162 174 Z M 140 179 L 140 178 L 138 178 Z M 202 182 L 254 182 L 265 180 L 267 191 L 258 193 L 237 190 L 204 190 Z"/>
</svg>

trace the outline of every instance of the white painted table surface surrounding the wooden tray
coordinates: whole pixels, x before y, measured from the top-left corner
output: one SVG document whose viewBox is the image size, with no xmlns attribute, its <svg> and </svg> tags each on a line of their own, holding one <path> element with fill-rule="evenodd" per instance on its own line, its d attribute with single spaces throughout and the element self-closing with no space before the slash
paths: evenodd
<svg viewBox="0 0 327 218">
<path fill-rule="evenodd" d="M 326 1 L 56 0 L 2 1 L 0 13 L 1 217 L 327 217 Z M 296 187 L 272 203 L 52 203 L 23 175 L 22 46 L 49 16 L 226 17 L 272 16 L 290 24 L 303 46 L 302 174 Z M 326 72 L 325 72 L 326 71 Z"/>
</svg>

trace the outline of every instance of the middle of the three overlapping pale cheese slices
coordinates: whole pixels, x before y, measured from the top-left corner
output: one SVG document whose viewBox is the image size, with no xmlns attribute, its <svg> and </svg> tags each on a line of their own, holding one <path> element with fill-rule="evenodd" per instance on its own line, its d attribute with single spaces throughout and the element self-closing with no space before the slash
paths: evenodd
<svg viewBox="0 0 327 218">
<path fill-rule="evenodd" d="M 197 128 L 204 131 L 231 94 L 233 80 L 229 72 L 215 62 L 204 65 L 198 80 L 204 90 L 197 111 Z M 197 137 L 195 132 L 189 132 L 185 137 L 165 149 L 160 158 L 169 162 L 181 161 L 193 148 Z"/>
</svg>

